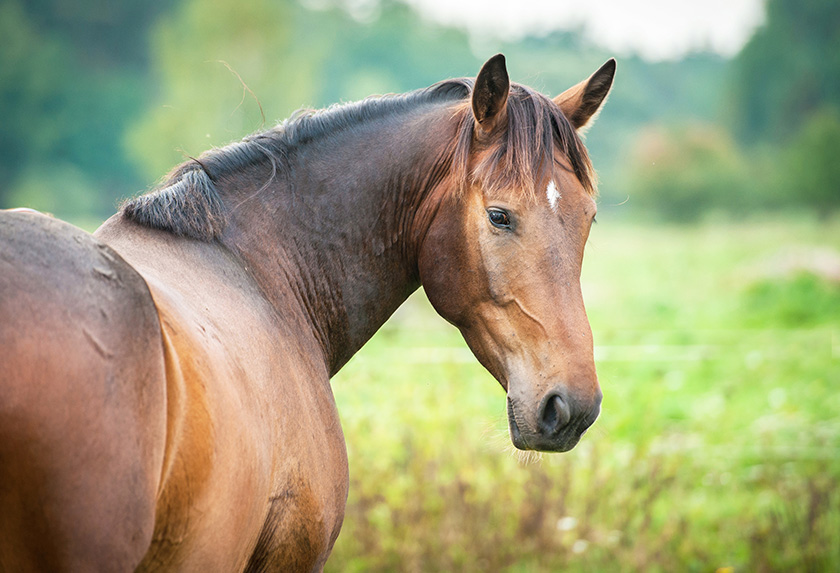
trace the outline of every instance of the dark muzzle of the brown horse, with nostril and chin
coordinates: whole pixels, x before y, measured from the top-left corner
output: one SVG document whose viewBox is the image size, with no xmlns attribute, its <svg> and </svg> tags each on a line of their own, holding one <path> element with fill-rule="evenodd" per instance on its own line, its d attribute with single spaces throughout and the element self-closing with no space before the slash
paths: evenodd
<svg viewBox="0 0 840 573">
<path fill-rule="evenodd" d="M 508 394 L 507 409 L 511 441 L 518 449 L 567 452 L 598 418 L 601 391 L 582 400 L 558 386 L 548 391 L 536 408 Z"/>
</svg>

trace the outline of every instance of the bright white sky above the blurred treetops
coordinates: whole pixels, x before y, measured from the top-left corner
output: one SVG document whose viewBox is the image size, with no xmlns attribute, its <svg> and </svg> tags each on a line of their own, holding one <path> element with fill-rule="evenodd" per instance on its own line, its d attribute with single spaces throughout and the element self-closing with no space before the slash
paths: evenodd
<svg viewBox="0 0 840 573">
<path fill-rule="evenodd" d="M 635 52 L 652 60 L 700 49 L 734 55 L 764 17 L 763 0 L 404 1 L 434 21 L 467 28 L 477 39 L 583 28 L 593 43 L 616 55 Z"/>
</svg>

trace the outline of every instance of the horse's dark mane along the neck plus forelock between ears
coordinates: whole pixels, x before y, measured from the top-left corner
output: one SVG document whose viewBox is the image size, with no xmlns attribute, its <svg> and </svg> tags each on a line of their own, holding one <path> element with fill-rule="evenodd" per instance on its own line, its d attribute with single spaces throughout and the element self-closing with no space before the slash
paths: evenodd
<svg viewBox="0 0 840 573">
<path fill-rule="evenodd" d="M 146 227 L 212 241 L 221 236 L 226 224 L 217 189 L 217 183 L 226 176 L 270 163 L 272 176 L 267 186 L 278 172 L 287 175 L 288 159 L 295 148 L 374 119 L 416 110 L 423 104 L 457 101 L 464 103 L 457 112 L 460 128 L 445 155 L 462 188 L 481 182 L 489 188 L 515 186 L 533 192 L 559 148 L 584 188 L 595 194 L 592 164 L 574 128 L 550 99 L 519 84 L 511 86 L 508 98 L 508 129 L 493 153 L 470 175 L 468 161 L 475 129 L 469 106 L 472 87 L 472 79 L 447 80 L 405 94 L 374 96 L 319 111 L 298 111 L 272 129 L 182 163 L 157 188 L 124 202 L 120 212 Z"/>
</svg>

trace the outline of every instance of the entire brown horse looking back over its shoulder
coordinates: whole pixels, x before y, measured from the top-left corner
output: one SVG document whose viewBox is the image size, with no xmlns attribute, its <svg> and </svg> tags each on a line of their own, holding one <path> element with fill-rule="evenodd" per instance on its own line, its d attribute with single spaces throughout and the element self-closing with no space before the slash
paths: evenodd
<svg viewBox="0 0 840 573">
<path fill-rule="evenodd" d="M 330 377 L 420 284 L 507 392 L 514 445 L 598 416 L 577 130 L 473 80 L 298 115 L 93 236 L 0 218 L 0 570 L 318 571 L 347 498 Z"/>
</svg>

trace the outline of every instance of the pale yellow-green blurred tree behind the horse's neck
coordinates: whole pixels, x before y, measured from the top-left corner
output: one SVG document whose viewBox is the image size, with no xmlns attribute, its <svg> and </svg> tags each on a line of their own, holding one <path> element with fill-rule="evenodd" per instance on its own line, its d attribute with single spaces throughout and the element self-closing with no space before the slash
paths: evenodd
<svg viewBox="0 0 840 573">
<path fill-rule="evenodd" d="M 316 93 L 315 70 L 327 45 L 301 42 L 322 29 L 291 0 L 185 0 L 152 35 L 157 105 L 125 143 L 154 180 L 187 156 L 285 117 Z M 306 49 L 303 49 L 303 46 Z"/>
</svg>

